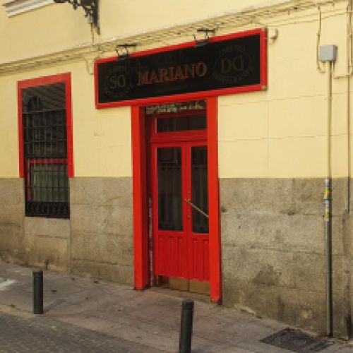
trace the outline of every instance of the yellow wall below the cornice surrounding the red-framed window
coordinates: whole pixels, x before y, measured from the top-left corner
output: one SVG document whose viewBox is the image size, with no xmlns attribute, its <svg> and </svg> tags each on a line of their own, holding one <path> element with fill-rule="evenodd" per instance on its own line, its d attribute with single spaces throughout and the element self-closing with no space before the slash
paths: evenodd
<svg viewBox="0 0 353 353">
<path fill-rule="evenodd" d="M 0 177 L 18 177 L 17 80 L 71 71 L 76 177 L 131 177 L 129 107 L 96 110 L 93 76 L 84 62 L 0 78 Z"/>
</svg>

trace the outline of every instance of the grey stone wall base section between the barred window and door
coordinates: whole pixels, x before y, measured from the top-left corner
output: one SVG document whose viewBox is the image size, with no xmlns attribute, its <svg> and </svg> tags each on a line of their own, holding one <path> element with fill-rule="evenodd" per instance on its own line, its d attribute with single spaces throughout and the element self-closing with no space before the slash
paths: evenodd
<svg viewBox="0 0 353 353">
<path fill-rule="evenodd" d="M 71 179 L 71 269 L 133 283 L 132 179 Z"/>
</svg>

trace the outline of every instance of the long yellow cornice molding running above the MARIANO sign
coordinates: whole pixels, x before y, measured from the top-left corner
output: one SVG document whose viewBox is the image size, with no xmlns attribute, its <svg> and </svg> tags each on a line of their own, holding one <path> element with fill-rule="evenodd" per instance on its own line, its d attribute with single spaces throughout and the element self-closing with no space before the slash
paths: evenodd
<svg viewBox="0 0 353 353">
<path fill-rule="evenodd" d="M 347 0 L 335 0 L 337 3 L 345 3 Z M 47 1 L 42 1 L 47 2 Z M 49 1 L 52 3 L 52 0 Z M 257 8 L 242 8 L 235 13 L 227 13 L 214 18 L 207 18 L 193 23 L 185 23 L 172 27 L 159 28 L 136 33 L 126 37 L 112 37 L 98 40 L 95 43 L 82 43 L 76 47 L 60 49 L 55 52 L 38 56 L 16 59 L 7 62 L 0 61 L 0 77 L 13 72 L 31 70 L 40 66 L 59 64 L 68 61 L 85 61 L 92 72 L 92 63 L 98 57 L 114 56 L 117 44 L 126 42 L 138 43 L 139 50 L 151 49 L 152 47 L 164 46 L 166 43 L 177 44 L 186 42 L 192 33 L 196 33 L 198 28 L 217 28 L 217 34 L 227 34 L 235 30 L 250 30 L 253 28 L 265 28 L 266 22 L 275 16 L 283 13 L 298 14 L 301 10 L 316 10 L 318 4 L 332 5 L 332 0 L 318 0 L 314 3 L 311 0 L 268 0 L 271 6 Z M 312 13 L 316 16 L 316 12 Z M 257 22 L 261 20 L 263 23 Z"/>
</svg>

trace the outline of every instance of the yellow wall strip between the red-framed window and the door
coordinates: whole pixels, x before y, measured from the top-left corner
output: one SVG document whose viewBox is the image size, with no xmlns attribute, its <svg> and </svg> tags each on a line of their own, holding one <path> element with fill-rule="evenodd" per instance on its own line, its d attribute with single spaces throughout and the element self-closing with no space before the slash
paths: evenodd
<svg viewBox="0 0 353 353">
<path fill-rule="evenodd" d="M 131 177 L 131 109 L 95 109 L 93 76 L 73 66 L 73 151 L 76 177 Z"/>
</svg>

